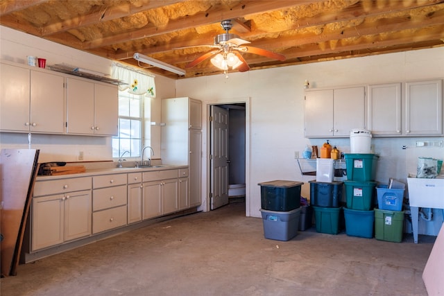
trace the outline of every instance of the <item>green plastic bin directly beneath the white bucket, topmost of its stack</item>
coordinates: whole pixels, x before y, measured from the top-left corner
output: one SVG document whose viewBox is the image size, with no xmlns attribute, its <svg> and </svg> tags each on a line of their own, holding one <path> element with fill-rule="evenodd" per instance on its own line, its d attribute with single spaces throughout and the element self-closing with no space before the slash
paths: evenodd
<svg viewBox="0 0 444 296">
<path fill-rule="evenodd" d="M 379 157 L 375 154 L 346 153 L 345 167 L 347 180 L 350 181 L 374 181 L 376 175 L 376 164 Z"/>
</svg>

